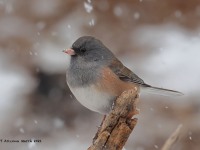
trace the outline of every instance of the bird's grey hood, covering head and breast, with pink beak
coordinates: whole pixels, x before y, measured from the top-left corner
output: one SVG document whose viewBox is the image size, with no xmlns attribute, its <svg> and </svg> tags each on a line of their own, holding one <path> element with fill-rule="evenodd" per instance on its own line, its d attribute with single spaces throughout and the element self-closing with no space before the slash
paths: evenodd
<svg viewBox="0 0 200 150">
<path fill-rule="evenodd" d="M 95 83 L 101 76 L 100 68 L 109 65 L 115 57 L 100 40 L 92 36 L 80 37 L 64 52 L 71 55 L 67 82 L 73 87 Z"/>
</svg>

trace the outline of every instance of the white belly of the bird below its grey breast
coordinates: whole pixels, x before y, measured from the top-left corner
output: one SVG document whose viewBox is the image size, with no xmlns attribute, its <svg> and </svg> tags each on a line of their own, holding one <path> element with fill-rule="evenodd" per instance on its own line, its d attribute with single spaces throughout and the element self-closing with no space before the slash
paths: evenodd
<svg viewBox="0 0 200 150">
<path fill-rule="evenodd" d="M 95 89 L 93 85 L 84 88 L 72 88 L 70 90 L 76 99 L 85 107 L 101 114 L 107 114 L 113 104 L 114 96 Z"/>
</svg>

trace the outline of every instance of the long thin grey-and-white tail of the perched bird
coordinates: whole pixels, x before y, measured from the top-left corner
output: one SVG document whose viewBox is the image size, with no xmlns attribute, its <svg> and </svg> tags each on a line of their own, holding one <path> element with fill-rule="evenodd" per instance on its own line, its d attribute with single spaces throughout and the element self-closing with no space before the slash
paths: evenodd
<svg viewBox="0 0 200 150">
<path fill-rule="evenodd" d="M 153 87 L 153 86 L 141 86 L 142 90 L 148 93 L 152 94 L 158 94 L 163 96 L 182 96 L 183 93 L 179 91 L 159 88 L 159 87 Z"/>
</svg>

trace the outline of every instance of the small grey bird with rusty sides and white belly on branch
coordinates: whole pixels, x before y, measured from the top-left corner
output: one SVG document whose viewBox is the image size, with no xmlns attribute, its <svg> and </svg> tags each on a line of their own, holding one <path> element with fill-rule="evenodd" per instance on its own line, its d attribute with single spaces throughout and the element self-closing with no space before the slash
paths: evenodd
<svg viewBox="0 0 200 150">
<path fill-rule="evenodd" d="M 64 52 L 71 55 L 67 84 L 77 100 L 92 111 L 107 114 L 117 96 L 135 87 L 160 95 L 182 95 L 146 84 L 92 36 L 80 37 Z"/>
</svg>

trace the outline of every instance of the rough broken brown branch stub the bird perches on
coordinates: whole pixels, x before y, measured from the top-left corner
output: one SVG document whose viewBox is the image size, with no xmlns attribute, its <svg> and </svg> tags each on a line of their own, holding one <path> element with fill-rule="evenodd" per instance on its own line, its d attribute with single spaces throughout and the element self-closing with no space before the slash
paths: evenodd
<svg viewBox="0 0 200 150">
<path fill-rule="evenodd" d="M 137 119 L 133 118 L 139 113 L 137 102 L 137 88 L 123 92 L 116 99 L 112 111 L 103 119 L 88 150 L 121 150 L 137 124 Z"/>
</svg>

